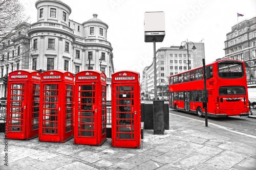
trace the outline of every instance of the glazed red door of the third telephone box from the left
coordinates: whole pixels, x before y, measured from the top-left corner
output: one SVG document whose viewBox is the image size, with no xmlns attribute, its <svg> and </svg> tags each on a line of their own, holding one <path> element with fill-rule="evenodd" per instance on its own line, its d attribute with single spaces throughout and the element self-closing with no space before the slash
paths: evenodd
<svg viewBox="0 0 256 170">
<path fill-rule="evenodd" d="M 83 138 L 88 138 L 88 144 L 97 143 L 97 109 L 95 101 L 98 100 L 96 96 L 97 83 L 83 83 L 78 85 L 78 138 L 77 143 L 82 143 Z M 78 100 L 78 101 L 77 101 Z M 81 140 L 79 142 L 79 140 Z"/>
</svg>

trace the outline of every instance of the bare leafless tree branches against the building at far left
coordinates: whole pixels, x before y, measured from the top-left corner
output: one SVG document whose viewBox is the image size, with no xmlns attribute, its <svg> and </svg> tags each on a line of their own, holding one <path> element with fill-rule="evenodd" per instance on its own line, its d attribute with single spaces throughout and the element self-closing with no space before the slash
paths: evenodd
<svg viewBox="0 0 256 170">
<path fill-rule="evenodd" d="M 0 60 L 8 64 L 28 56 L 29 37 L 27 30 L 29 17 L 19 0 L 0 0 Z"/>
</svg>

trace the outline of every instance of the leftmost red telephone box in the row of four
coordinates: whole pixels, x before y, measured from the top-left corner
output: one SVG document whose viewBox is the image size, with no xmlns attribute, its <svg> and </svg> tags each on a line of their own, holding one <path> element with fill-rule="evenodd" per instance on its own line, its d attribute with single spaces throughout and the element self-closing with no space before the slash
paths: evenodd
<svg viewBox="0 0 256 170">
<path fill-rule="evenodd" d="M 38 136 L 40 72 L 12 71 L 8 79 L 8 139 L 31 139 Z"/>
</svg>

